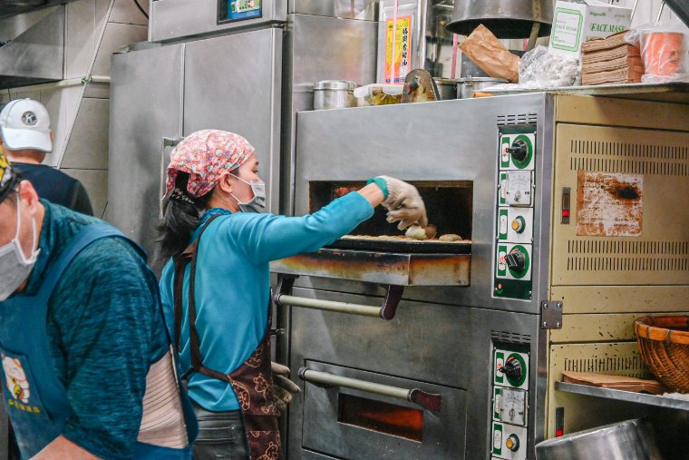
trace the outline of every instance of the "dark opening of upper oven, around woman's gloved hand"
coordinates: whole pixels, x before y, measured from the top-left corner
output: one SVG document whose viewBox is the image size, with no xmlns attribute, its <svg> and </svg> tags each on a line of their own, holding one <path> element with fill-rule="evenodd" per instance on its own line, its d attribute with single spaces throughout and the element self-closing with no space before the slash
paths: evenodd
<svg viewBox="0 0 689 460">
<path fill-rule="evenodd" d="M 426 205 L 428 221 L 438 229 L 438 236 L 460 235 L 462 240 L 471 240 L 473 217 L 472 181 L 410 181 L 422 196 Z M 364 181 L 311 181 L 309 182 L 309 210 L 320 210 L 330 201 L 351 191 L 364 187 Z M 364 221 L 350 235 L 368 237 L 400 236 L 396 224 L 385 220 L 387 211 L 383 206 L 375 209 L 374 217 Z"/>
</svg>

